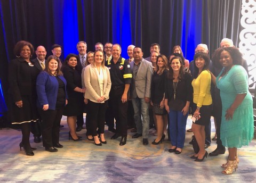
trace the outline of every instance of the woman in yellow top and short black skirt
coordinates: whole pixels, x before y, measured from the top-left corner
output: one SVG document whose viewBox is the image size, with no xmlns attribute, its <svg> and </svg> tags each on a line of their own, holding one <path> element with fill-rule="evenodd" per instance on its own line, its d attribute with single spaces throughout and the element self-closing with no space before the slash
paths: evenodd
<svg viewBox="0 0 256 183">
<path fill-rule="evenodd" d="M 191 159 L 201 162 L 208 155 L 204 149 L 204 127 L 210 122 L 212 112 L 211 73 L 209 71 L 210 57 L 207 53 L 198 52 L 194 56 L 194 61 L 194 80 L 192 81 L 194 89 L 193 116 L 196 120 L 193 120 L 192 131 L 197 140 L 199 152 L 191 156 Z"/>
</svg>

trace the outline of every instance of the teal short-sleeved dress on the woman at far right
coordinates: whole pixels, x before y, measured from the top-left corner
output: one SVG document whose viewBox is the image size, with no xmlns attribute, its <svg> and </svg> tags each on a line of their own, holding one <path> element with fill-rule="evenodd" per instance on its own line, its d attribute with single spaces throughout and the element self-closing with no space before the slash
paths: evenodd
<svg viewBox="0 0 256 183">
<path fill-rule="evenodd" d="M 240 148 L 248 145 L 253 138 L 253 107 L 248 76 L 241 65 L 234 65 L 227 74 L 220 78 L 224 70 L 225 68 L 216 78 L 222 102 L 220 139 L 223 146 Z M 225 118 L 227 109 L 233 104 L 237 94 L 245 93 L 246 96 L 235 110 L 233 119 L 227 121 Z"/>
</svg>

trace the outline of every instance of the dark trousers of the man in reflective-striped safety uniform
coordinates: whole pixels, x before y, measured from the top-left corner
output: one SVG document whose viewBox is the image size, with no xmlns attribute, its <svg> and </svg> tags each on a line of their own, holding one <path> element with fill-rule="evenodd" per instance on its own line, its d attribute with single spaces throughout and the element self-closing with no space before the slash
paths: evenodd
<svg viewBox="0 0 256 183">
<path fill-rule="evenodd" d="M 122 103 L 123 93 L 124 86 L 117 89 L 111 88 L 109 99 L 111 100 L 112 111 L 116 119 L 116 133 L 127 136 L 128 102 Z"/>
</svg>

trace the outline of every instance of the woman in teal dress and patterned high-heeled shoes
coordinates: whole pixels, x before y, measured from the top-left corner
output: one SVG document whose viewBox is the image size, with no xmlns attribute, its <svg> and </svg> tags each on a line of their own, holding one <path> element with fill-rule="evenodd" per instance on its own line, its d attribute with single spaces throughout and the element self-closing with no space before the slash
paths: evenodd
<svg viewBox="0 0 256 183">
<path fill-rule="evenodd" d="M 238 48 L 219 48 L 213 55 L 214 59 L 223 66 L 215 81 L 222 101 L 220 139 L 229 153 L 227 163 L 221 167 L 226 168 L 223 174 L 231 174 L 239 163 L 237 148 L 249 145 L 253 138 L 252 96 Z"/>
</svg>

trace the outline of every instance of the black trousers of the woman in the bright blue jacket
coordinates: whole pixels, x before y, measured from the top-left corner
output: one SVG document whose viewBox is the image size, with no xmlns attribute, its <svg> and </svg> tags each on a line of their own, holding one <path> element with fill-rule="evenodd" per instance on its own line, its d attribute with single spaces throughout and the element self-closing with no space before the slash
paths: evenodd
<svg viewBox="0 0 256 183">
<path fill-rule="evenodd" d="M 59 127 L 63 109 L 63 107 L 57 110 L 46 111 L 38 109 L 38 112 L 42 118 L 42 137 L 44 147 L 52 147 L 53 144 L 59 143 Z"/>
</svg>

